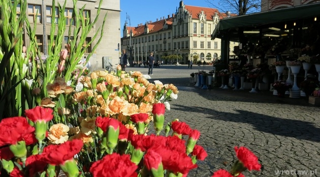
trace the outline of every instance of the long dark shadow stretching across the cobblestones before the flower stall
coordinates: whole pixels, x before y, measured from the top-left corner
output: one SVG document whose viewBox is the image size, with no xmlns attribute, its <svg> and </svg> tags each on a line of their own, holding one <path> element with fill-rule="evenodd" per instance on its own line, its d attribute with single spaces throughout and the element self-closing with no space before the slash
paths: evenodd
<svg viewBox="0 0 320 177">
<path fill-rule="evenodd" d="M 244 110 L 234 110 L 237 113 L 226 113 L 219 112 L 210 108 L 204 109 L 203 107 L 198 106 L 175 106 L 177 107 L 175 109 L 180 111 L 193 110 L 194 113 L 215 115 L 207 116 L 207 118 L 210 119 L 251 124 L 254 129 L 273 135 L 293 137 L 299 140 L 308 140 L 312 142 L 320 142 L 320 128 L 315 127 L 310 122 L 294 120 L 291 117 L 283 119 Z"/>
</svg>

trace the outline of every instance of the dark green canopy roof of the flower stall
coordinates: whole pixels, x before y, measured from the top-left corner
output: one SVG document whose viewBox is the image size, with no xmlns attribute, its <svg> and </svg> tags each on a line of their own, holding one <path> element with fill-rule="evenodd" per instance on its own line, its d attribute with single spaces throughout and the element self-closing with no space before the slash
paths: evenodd
<svg viewBox="0 0 320 177">
<path fill-rule="evenodd" d="M 320 3 L 225 18 L 219 21 L 211 35 L 211 39 L 221 38 L 223 33 L 228 32 L 230 34 L 230 32 L 237 30 L 239 27 L 243 27 L 245 30 L 252 30 L 268 25 L 271 27 L 271 24 L 275 23 L 314 18 L 316 16 L 320 16 Z"/>
</svg>

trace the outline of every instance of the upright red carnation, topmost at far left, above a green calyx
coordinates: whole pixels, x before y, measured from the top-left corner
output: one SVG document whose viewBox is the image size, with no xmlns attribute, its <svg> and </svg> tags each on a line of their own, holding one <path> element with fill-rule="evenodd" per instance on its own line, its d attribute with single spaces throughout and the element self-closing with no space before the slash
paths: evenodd
<svg viewBox="0 0 320 177">
<path fill-rule="evenodd" d="M 25 110 L 25 116 L 33 122 L 44 121 L 48 122 L 53 118 L 53 110 L 37 106 L 33 109 Z"/>
</svg>

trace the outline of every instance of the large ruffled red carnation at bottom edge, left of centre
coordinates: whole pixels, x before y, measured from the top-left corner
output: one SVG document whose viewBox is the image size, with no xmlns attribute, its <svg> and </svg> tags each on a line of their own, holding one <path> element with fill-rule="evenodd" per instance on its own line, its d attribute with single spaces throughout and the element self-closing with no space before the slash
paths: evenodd
<svg viewBox="0 0 320 177">
<path fill-rule="evenodd" d="M 90 172 L 94 177 L 131 177 L 138 176 L 136 172 L 137 168 L 138 166 L 130 160 L 130 155 L 125 154 L 120 156 L 117 153 L 113 153 L 94 162 L 90 167 Z"/>
</svg>

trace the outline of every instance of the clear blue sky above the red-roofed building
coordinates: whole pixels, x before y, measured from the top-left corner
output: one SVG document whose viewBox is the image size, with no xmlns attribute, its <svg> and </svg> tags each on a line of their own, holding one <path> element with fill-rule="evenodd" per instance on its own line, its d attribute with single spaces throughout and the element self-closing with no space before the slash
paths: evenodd
<svg viewBox="0 0 320 177">
<path fill-rule="evenodd" d="M 213 3 L 213 0 L 209 0 Z M 123 25 L 126 20 L 126 14 L 130 16 L 131 26 L 138 26 L 138 24 L 145 24 L 146 21 L 160 20 L 162 17 L 171 16 L 179 7 L 180 0 L 120 0 L 120 31 L 122 36 Z M 184 5 L 209 7 L 213 8 L 208 0 L 185 0 Z M 129 20 L 128 26 L 129 26 Z"/>
</svg>

